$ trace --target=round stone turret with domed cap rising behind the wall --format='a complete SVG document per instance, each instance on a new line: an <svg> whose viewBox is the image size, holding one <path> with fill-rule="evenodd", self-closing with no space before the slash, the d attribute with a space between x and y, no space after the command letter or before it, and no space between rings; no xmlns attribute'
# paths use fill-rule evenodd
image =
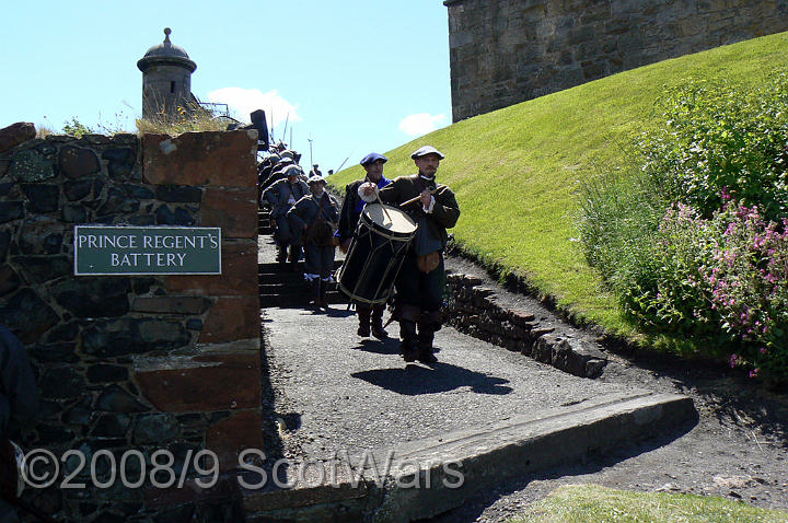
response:
<svg viewBox="0 0 788 523"><path fill-rule="evenodd" d="M196 105L192 94L192 73L197 63L183 47L170 42L170 27L164 28L164 42L148 49L137 62L142 71L142 117L174 118L178 107L190 113Z"/></svg>

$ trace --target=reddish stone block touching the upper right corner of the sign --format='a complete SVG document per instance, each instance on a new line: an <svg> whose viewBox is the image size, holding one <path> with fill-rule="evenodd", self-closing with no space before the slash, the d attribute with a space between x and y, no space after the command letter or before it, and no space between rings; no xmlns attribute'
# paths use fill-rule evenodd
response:
<svg viewBox="0 0 788 523"><path fill-rule="evenodd" d="M220 226L222 237L257 237L257 189L207 188L202 196L202 226Z"/></svg>

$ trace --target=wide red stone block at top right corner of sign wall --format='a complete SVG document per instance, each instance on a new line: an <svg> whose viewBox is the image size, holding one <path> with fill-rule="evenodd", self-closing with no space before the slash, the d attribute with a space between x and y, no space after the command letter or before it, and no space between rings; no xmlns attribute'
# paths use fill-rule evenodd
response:
<svg viewBox="0 0 788 523"><path fill-rule="evenodd" d="M256 187L256 132L142 137L143 179L154 185Z"/></svg>

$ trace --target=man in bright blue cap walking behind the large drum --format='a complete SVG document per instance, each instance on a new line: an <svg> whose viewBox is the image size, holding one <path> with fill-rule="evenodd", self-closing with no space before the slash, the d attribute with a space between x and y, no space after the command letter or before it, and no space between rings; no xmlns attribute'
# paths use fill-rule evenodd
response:
<svg viewBox="0 0 788 523"><path fill-rule="evenodd" d="M339 249L343 253L347 253L350 246L350 241L356 232L361 211L367 205L366 200L371 200L375 197L375 187L382 189L391 184L391 179L383 176L383 164L387 161L387 158L376 152L367 154L361 159L361 166L367 171L367 176L345 187L345 201L343 201L341 211L339 212L339 229L337 230ZM385 303L370 305L369 303L357 302L356 312L359 317L358 335L362 338L368 338L371 330L372 336L378 339L387 338L389 333L383 328L383 311L385 311Z"/></svg>

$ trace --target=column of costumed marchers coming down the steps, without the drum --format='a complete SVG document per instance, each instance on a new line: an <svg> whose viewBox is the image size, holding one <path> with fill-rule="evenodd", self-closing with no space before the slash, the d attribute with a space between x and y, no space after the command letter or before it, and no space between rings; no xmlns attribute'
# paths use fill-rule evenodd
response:
<svg viewBox="0 0 788 523"><path fill-rule="evenodd" d="M341 209L325 191L326 182L317 165L305 177L296 153L283 150L271 156L266 159L268 172L262 182L260 202L268 202L273 209L278 262L282 265L289 262L294 267L303 245L304 277L313 289L310 302L313 307L327 307L326 290L333 281L335 247L348 251L368 202L397 207L418 223L417 240L408 248L395 281L393 317L399 323L403 359L434 363L432 341L441 328L447 229L453 228L460 218L454 193L436 182L443 153L431 146L419 148L410 155L418 173L393 181L383 175L387 161L384 155L375 152L366 155L360 162L366 176L346 187ZM263 168L260 178L262 173ZM359 336L387 337L383 325L385 305L356 303Z"/></svg>

